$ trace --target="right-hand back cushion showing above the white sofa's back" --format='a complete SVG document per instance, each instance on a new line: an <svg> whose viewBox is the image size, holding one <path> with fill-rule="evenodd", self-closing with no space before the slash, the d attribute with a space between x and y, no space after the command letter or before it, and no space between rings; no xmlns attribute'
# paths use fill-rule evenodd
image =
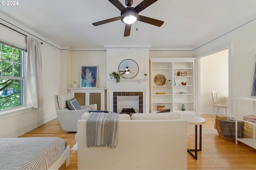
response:
<svg viewBox="0 0 256 170"><path fill-rule="evenodd" d="M131 120L172 120L180 119L179 113L134 113Z"/></svg>

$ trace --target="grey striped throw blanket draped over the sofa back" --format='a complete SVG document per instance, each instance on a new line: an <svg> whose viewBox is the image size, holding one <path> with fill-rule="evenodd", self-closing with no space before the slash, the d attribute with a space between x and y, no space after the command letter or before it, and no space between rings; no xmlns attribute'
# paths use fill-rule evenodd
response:
<svg viewBox="0 0 256 170"><path fill-rule="evenodd" d="M86 121L87 147L115 148L118 141L118 113L91 112Z"/></svg>

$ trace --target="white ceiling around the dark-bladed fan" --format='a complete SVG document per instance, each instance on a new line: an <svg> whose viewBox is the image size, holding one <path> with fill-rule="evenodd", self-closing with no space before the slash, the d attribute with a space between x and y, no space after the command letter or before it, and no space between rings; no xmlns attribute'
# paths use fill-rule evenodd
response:
<svg viewBox="0 0 256 170"><path fill-rule="evenodd" d="M120 0L124 4L125 0ZM71 48L103 45L152 45L154 48L192 48L230 29L256 12L256 0L158 0L140 15L164 21L156 27L140 21L129 37L124 23L96 21L120 16L108 0L20 0L0 6L0 12L50 39ZM142 0L134 0L135 7ZM138 26L138 31L136 27Z"/></svg>

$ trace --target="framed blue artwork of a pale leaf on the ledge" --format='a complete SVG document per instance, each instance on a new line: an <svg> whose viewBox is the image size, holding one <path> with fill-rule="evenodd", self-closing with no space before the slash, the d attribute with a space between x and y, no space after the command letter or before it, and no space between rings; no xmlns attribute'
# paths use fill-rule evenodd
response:
<svg viewBox="0 0 256 170"><path fill-rule="evenodd" d="M98 66L82 66L80 88L97 88Z"/></svg>

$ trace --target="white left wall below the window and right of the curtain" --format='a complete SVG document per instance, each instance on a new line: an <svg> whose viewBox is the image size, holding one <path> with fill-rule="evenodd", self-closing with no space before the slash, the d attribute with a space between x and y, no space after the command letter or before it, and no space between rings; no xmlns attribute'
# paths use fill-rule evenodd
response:
<svg viewBox="0 0 256 170"><path fill-rule="evenodd" d="M1 33L6 33L5 37L12 37L14 33L13 37L20 38L17 43L22 42L24 38L24 35L16 36L17 32L8 29L1 29ZM38 109L17 109L11 113L0 112L0 137L17 137L57 117L53 95L61 92L60 51L49 47L47 43L41 47L44 106Z"/></svg>

